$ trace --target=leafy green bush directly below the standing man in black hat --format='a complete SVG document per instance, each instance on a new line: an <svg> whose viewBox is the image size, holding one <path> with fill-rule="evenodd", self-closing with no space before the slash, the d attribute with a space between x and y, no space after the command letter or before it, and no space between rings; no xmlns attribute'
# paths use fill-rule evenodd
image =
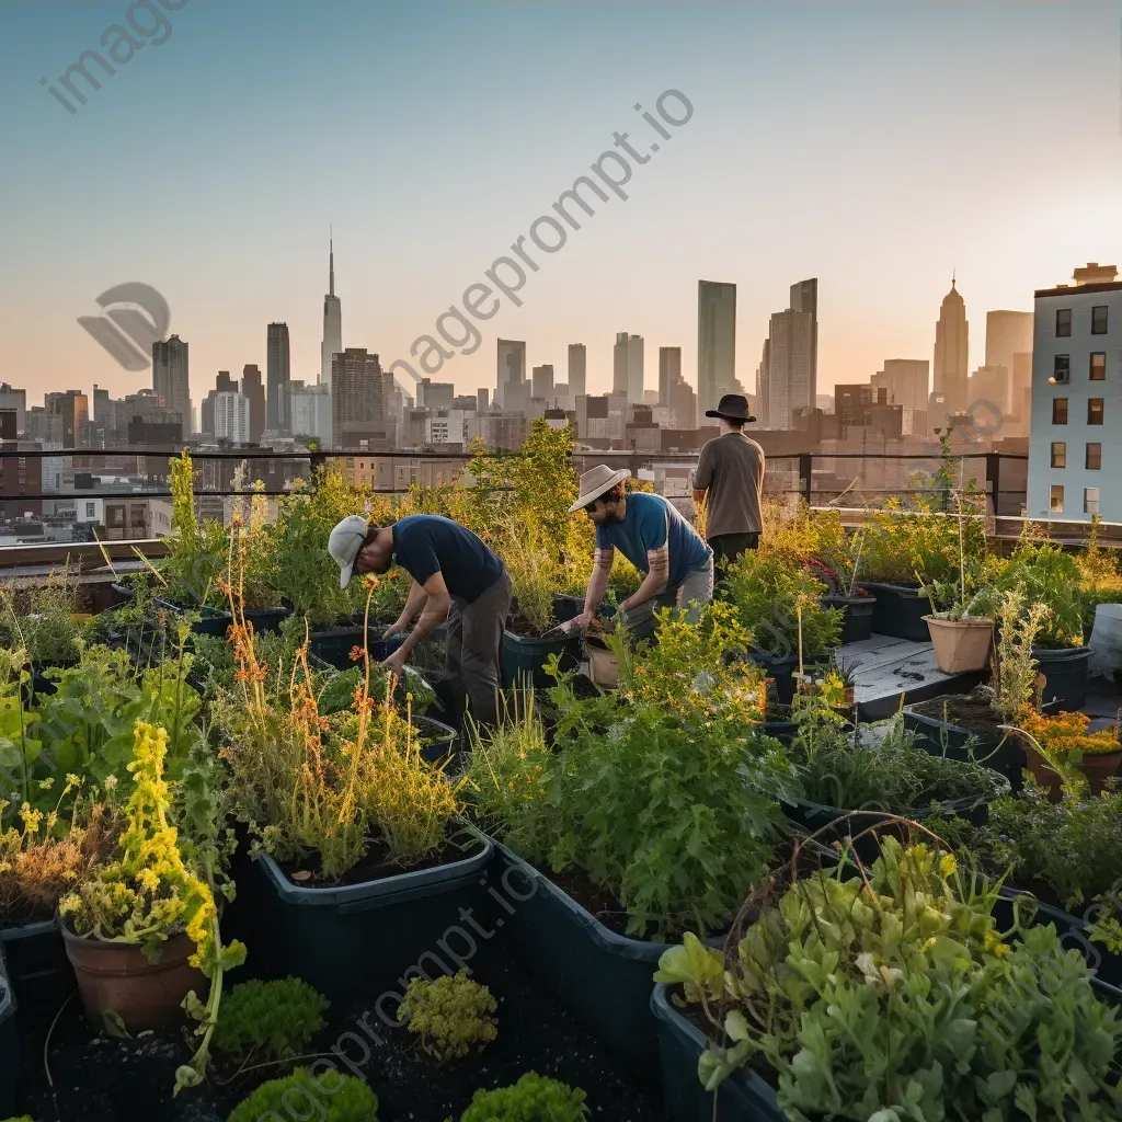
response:
<svg viewBox="0 0 1122 1122"><path fill-rule="evenodd" d="M725 569L724 583L765 654L818 655L840 642L842 609L822 607L826 586L782 553L746 550Z"/></svg>

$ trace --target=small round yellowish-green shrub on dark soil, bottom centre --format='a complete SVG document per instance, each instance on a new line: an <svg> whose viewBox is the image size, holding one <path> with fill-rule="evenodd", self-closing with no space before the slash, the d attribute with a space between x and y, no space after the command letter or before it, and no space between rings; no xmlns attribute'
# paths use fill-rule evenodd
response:
<svg viewBox="0 0 1122 1122"><path fill-rule="evenodd" d="M413 978L397 1009L397 1020L408 1021L410 1032L421 1038L426 1052L448 1060L479 1051L498 1036L497 1009L490 990L459 971L435 982Z"/></svg>

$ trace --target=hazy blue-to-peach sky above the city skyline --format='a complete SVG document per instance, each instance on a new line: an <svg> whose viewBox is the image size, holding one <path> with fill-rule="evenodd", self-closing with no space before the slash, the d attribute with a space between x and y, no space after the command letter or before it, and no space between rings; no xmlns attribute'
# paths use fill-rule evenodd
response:
<svg viewBox="0 0 1122 1122"><path fill-rule="evenodd" d="M270 320L314 381L329 222L344 344L407 359L614 131L646 150L633 107L666 89L693 117L631 197L539 254L522 306L504 300L436 380L493 387L502 335L558 380L587 343L601 390L628 331L649 388L660 346L695 381L703 277L738 286L752 388L769 314L817 276L827 390L930 359L953 268L973 369L987 309L1031 310L1087 260L1122 267L1118 2L168 2L166 42L73 116L39 80L129 3L0 9L0 379L29 401L150 384L75 323L127 280L166 296L196 405L219 369L264 370Z"/></svg>

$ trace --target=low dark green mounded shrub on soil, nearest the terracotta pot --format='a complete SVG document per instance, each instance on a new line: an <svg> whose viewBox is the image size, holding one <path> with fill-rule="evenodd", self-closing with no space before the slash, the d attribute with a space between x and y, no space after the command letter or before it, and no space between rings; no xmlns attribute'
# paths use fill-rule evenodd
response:
<svg viewBox="0 0 1122 1122"><path fill-rule="evenodd" d="M231 1059L292 1059L323 1028L328 999L301 978L242 982L222 1002L213 1046Z"/></svg>

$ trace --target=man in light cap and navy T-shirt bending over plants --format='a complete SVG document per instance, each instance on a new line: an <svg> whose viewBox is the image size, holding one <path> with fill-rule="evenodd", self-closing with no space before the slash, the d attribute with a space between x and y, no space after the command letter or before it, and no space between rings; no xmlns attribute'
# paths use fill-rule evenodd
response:
<svg viewBox="0 0 1122 1122"><path fill-rule="evenodd" d="M494 725L511 614L511 578L503 562L470 530L435 514L411 514L389 526L368 526L366 518L351 515L331 531L328 552L339 564L342 588L355 573L387 572L396 560L413 586L387 634L416 624L381 664L401 674L416 645L447 617L452 686L470 699L477 721Z"/></svg>

